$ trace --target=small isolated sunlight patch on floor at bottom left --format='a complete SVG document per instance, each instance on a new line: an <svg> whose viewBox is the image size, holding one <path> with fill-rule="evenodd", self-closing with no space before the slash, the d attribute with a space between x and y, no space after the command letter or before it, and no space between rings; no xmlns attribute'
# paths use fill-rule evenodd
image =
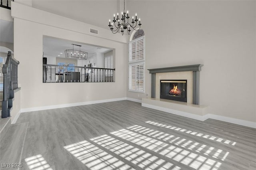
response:
<svg viewBox="0 0 256 170"><path fill-rule="evenodd" d="M30 170L52 170L40 154L26 158L25 161Z"/></svg>

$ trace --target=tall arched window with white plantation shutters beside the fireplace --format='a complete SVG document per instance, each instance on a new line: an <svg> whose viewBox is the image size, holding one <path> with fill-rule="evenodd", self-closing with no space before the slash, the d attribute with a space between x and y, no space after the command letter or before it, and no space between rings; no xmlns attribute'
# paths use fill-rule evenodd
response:
<svg viewBox="0 0 256 170"><path fill-rule="evenodd" d="M143 30L133 32L129 42L129 91L145 91L145 36Z"/></svg>

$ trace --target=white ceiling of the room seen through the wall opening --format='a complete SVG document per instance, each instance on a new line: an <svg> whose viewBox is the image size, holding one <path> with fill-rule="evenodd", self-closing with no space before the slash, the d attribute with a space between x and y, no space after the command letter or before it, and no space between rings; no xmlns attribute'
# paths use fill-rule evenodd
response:
<svg viewBox="0 0 256 170"><path fill-rule="evenodd" d="M72 43L77 45L82 45L82 47L80 47L81 51L87 52L88 56L91 56L93 53L107 53L113 50L106 47L99 47L95 45L88 45L84 43L72 42L69 40L44 36L43 38L44 55L53 56L53 57L65 57L65 50L72 49L73 48ZM79 49L79 47L74 45L74 49Z"/></svg>

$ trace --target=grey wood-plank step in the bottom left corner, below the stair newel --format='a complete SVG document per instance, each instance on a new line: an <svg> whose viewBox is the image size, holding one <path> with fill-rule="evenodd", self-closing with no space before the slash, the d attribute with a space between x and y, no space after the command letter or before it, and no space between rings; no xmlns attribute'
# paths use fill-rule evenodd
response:
<svg viewBox="0 0 256 170"><path fill-rule="evenodd" d="M27 127L28 123L11 125L6 134L0 137L0 162L2 164L10 163L12 165L12 163L20 163ZM1 170L10 169L15 168L1 167Z"/></svg>

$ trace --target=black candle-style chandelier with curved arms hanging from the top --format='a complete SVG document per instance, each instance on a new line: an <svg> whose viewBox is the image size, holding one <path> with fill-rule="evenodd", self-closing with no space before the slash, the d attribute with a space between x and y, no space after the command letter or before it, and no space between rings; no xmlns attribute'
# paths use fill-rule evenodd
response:
<svg viewBox="0 0 256 170"><path fill-rule="evenodd" d="M121 17L121 16L120 16ZM124 2L124 13L122 12L122 18L119 18L118 13L117 13L117 18L115 18L115 14L114 14L114 20L113 22L110 24L110 20L109 20L109 28L112 31L113 34L116 34L120 29L122 32L122 35L124 35L124 30L127 29L128 35L130 35L130 28L134 29L134 30L140 30L140 18L139 20L137 19L137 14L135 14L135 20L134 17L132 17L132 22L131 24L129 23L129 16L128 16L128 11L127 13L125 13L125 2ZM139 24L138 24L139 21ZM139 28L136 28L136 26L139 26Z"/></svg>

